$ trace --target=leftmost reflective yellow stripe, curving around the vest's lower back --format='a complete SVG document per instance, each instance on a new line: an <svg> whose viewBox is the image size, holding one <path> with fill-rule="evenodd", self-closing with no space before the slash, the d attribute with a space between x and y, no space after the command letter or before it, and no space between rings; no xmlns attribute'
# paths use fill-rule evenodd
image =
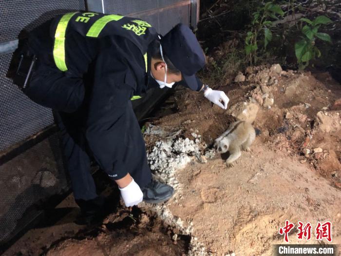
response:
<svg viewBox="0 0 341 256"><path fill-rule="evenodd" d="M55 34L55 45L53 48L53 58L55 59L56 66L61 71L66 71L68 68L65 63L65 32L68 26L69 20L77 12L67 13L61 17L57 25Z"/></svg>

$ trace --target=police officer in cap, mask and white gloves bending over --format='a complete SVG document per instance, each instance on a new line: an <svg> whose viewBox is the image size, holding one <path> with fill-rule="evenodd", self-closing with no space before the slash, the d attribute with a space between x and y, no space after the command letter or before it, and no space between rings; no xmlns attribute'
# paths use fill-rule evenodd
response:
<svg viewBox="0 0 341 256"><path fill-rule="evenodd" d="M225 93L195 76L205 56L183 24L161 37L144 20L73 12L32 31L27 47L38 60L24 93L57 111L74 196L90 219L104 203L90 173L91 157L117 183L126 206L164 202L174 193L152 179L132 99L152 86L183 81L227 108Z"/></svg>

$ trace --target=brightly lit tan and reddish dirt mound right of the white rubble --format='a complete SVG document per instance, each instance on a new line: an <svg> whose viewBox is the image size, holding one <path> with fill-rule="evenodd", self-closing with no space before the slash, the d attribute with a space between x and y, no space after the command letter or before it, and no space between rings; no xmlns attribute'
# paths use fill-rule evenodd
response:
<svg viewBox="0 0 341 256"><path fill-rule="evenodd" d="M238 116L239 102L259 109L252 114L260 135L251 152L244 152L233 167L226 166L222 155L178 171L182 191L170 211L193 222L193 236L213 255L271 255L272 244L283 243L278 231L286 219L296 226L310 222L313 228L329 220L332 243L340 244L341 108L335 103L340 84L327 73L272 76L266 67L245 73L245 81L216 88L227 93L232 111L180 91L174 97L180 112L154 121L161 127L180 124L185 137L193 139L195 131L210 145L227 129L230 114ZM265 107L265 93L274 98L270 107ZM303 154L306 150L310 153ZM289 240L318 243L300 241L296 232Z"/></svg>

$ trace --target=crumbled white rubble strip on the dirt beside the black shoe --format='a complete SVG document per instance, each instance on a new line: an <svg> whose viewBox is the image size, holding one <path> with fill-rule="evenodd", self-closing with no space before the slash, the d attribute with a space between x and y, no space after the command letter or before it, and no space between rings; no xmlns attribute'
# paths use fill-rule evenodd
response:
<svg viewBox="0 0 341 256"><path fill-rule="evenodd" d="M191 134L195 141L189 138L170 138L166 141L160 140L155 143L150 153L147 153L148 163L155 171L155 175L159 176L164 182L173 186L176 189L176 194L173 196L174 201L177 201L181 187L175 177L175 173L187 166L193 156L201 162L203 159L211 158L215 155L214 150L206 151L206 154L201 155L200 148L203 147L201 136L196 133ZM214 152L214 153L213 153ZM180 196L181 197L181 196ZM168 204L146 204L147 208L151 208L156 214L166 223L178 229L184 235L191 236L189 244L189 256L210 256L206 251L204 244L198 241L197 237L192 236L193 222L184 223L180 217L175 217L170 212ZM173 237L176 240L177 236Z"/></svg>

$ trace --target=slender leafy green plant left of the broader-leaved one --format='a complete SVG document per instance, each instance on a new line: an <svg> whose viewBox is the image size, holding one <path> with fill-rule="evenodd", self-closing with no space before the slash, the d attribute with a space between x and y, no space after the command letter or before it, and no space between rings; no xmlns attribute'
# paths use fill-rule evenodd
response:
<svg viewBox="0 0 341 256"><path fill-rule="evenodd" d="M272 32L270 27L273 23L271 19L279 20L279 17L284 16L282 8L273 4L272 1L266 2L263 7L257 7L257 11L252 14L251 31L246 33L245 53L252 65L257 62L257 50L259 45L259 35L261 31L264 33L264 49L272 40Z"/></svg>

